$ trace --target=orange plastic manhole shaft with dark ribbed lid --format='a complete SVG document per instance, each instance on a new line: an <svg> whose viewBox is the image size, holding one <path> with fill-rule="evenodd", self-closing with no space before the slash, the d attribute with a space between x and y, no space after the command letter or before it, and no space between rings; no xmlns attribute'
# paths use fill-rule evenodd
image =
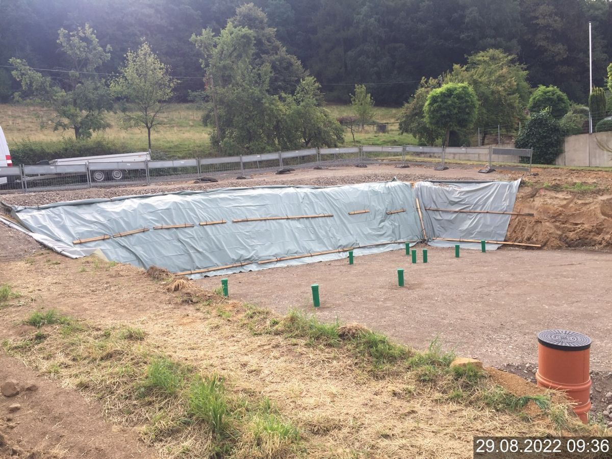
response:
<svg viewBox="0 0 612 459"><path fill-rule="evenodd" d="M591 338L570 330L543 330L537 334L537 341L537 385L563 390L576 402L573 411L587 422L591 409Z"/></svg>

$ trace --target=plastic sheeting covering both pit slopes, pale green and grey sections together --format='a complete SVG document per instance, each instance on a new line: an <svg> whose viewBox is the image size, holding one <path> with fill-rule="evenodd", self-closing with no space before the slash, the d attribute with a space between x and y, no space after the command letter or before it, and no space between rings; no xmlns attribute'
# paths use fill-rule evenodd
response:
<svg viewBox="0 0 612 459"><path fill-rule="evenodd" d="M406 241L414 244L424 239L417 196L428 238L502 241L509 215L425 208L512 211L518 183L418 182L414 189L400 181L325 188L223 188L13 207L12 215L39 235L40 242L67 256L90 255L99 249L109 260L145 269L155 265L171 272L244 264L190 274L198 278L338 259L346 257L349 248L354 248L355 255L365 255L403 248ZM244 221L270 217L298 218ZM225 223L200 225L220 221ZM193 226L154 229L165 225ZM73 244L78 239L143 228L147 231ZM304 256L332 250L338 252ZM259 263L292 256L296 258Z"/></svg>

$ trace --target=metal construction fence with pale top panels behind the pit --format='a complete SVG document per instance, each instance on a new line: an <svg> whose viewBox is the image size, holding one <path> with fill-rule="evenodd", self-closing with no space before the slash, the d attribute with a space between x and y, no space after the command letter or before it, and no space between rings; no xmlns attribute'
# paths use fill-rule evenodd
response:
<svg viewBox="0 0 612 459"><path fill-rule="evenodd" d="M125 184L184 181L206 176L245 176L256 171L323 165L408 162L435 159L436 168L447 168L446 160L482 163L483 171L494 163L510 163L531 171L532 151L516 148L378 146L310 148L256 155L137 162L88 162L77 165L21 165L0 167L0 193L112 187Z"/></svg>

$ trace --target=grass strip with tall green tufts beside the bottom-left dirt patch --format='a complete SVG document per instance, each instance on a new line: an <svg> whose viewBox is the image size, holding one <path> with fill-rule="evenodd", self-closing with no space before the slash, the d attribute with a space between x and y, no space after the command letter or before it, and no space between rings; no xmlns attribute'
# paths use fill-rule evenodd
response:
<svg viewBox="0 0 612 459"><path fill-rule="evenodd" d="M266 398L228 390L217 373L160 354L141 329L98 327L56 311L32 313L39 328L3 343L51 378L104 403L120 424L144 426L141 438L161 457L290 458L302 452L300 431Z"/></svg>

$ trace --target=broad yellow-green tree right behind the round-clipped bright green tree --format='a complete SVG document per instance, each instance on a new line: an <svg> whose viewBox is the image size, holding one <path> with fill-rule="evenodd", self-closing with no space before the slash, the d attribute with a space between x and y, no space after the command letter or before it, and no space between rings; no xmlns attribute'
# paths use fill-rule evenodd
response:
<svg viewBox="0 0 612 459"><path fill-rule="evenodd" d="M531 88L524 65L502 50L486 50L468 57L468 64L454 65L446 81L468 83L478 97L476 124L484 140L498 125L516 127L524 118Z"/></svg>

